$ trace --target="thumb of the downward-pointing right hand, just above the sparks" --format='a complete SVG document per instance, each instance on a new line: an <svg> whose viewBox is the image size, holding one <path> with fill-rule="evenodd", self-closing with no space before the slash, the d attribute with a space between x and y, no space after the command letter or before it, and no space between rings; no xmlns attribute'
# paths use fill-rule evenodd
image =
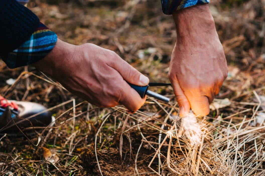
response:
<svg viewBox="0 0 265 176"><path fill-rule="evenodd" d="M183 117L187 113L189 113L191 106L182 88L179 85L178 79L172 80L171 84L173 86L173 90L174 90L174 94L176 96L177 102L179 104L179 116Z"/></svg>

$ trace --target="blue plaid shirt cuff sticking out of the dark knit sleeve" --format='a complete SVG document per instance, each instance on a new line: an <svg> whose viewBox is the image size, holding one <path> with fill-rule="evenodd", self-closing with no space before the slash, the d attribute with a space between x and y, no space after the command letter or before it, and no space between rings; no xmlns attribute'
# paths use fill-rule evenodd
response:
<svg viewBox="0 0 265 176"><path fill-rule="evenodd" d="M44 58L53 49L57 35L45 25L39 23L35 32L14 51L2 54L1 58L8 68L17 68L33 64Z"/></svg>

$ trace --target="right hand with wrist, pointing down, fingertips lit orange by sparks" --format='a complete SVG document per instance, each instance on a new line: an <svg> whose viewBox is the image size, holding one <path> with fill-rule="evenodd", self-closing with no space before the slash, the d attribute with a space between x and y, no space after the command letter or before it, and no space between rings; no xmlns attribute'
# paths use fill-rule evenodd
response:
<svg viewBox="0 0 265 176"><path fill-rule="evenodd" d="M223 46L207 4L173 13L177 41L172 52L169 79L180 107L197 116L209 114L209 103L227 77Z"/></svg>

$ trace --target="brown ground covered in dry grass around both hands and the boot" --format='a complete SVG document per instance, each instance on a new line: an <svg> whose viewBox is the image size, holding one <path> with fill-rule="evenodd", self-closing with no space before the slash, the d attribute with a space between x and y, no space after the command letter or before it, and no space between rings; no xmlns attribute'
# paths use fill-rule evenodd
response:
<svg viewBox="0 0 265 176"><path fill-rule="evenodd" d="M168 82L176 34L158 1L57 2L29 5L61 39L112 49L152 81ZM83 102L32 67L1 63L1 95L51 107L56 123L33 134L2 134L0 175L264 175L265 3L219 3L211 9L229 76L209 116L197 119L204 127L199 145L180 131L181 119L170 120L178 113L170 87L153 90L171 104L147 99L131 114ZM7 85L9 78L17 81ZM220 106L224 98L229 104Z"/></svg>

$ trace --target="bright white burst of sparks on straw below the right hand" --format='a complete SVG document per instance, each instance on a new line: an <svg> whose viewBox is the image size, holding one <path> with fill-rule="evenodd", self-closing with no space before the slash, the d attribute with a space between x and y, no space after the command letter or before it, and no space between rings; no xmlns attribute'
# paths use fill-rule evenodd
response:
<svg viewBox="0 0 265 176"><path fill-rule="evenodd" d="M181 131L190 140L191 145L199 145L201 143L204 127L198 123L197 117L193 113L181 118Z"/></svg>

